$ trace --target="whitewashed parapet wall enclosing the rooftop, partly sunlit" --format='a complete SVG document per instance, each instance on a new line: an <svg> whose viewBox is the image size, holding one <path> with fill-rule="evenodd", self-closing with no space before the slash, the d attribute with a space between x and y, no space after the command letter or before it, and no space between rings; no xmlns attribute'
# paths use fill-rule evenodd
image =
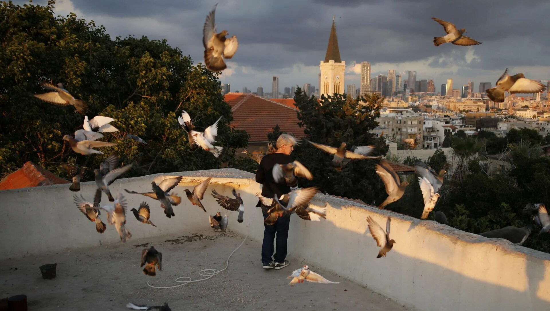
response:
<svg viewBox="0 0 550 311"><path fill-rule="evenodd" d="M184 176L183 181L172 193L183 198L182 204L174 207L172 219L164 216L158 201L123 190L150 191L151 181L179 175ZM214 178L203 200L208 211L205 213L189 203L184 189L210 176ZM233 188L245 203L243 223L237 222L237 212L220 208L211 196L211 189L230 195ZM91 200L95 184L83 183L82 189L77 194ZM131 212L127 215L133 239L193 232L209 226L208 214L217 211L228 215L229 230L259 241L263 237L261 210L255 208L254 195L261 187L254 181L254 174L248 172L227 168L155 174L119 179L111 189L113 193L124 193L129 208L137 208L141 201L151 206L151 220L158 228L138 223ZM103 195L103 203L106 201ZM0 259L121 243L113 226L107 225L103 234L95 231L94 223L76 209L66 184L0 191L0 202ZM310 222L292 216L289 256L301 259L299 264L322 266L411 309L550 308L549 254L329 195L317 194L312 204L327 204L327 219ZM378 247L366 223L369 215L382 227L387 217L392 219L390 236L397 243L386 258L376 258ZM105 215L102 219L106 222ZM239 242L235 241L235 246ZM257 255L260 264L260 249ZM337 286L345 287L345 282Z"/></svg>

